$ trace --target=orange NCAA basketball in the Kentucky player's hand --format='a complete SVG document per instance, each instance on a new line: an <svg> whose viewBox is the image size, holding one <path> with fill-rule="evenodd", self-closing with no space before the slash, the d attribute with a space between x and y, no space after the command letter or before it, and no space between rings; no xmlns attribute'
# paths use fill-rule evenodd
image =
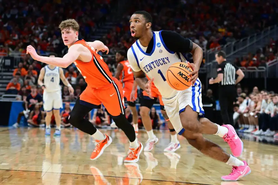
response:
<svg viewBox="0 0 278 185"><path fill-rule="evenodd" d="M166 80L171 88L179 91L185 90L192 85L189 81L192 76L188 75L192 71L187 63L177 62L166 71Z"/></svg>

